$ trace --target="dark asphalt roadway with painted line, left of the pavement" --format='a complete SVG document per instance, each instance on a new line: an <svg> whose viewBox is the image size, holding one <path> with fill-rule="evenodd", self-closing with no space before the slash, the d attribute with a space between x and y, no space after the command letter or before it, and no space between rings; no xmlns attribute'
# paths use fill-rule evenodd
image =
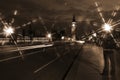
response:
<svg viewBox="0 0 120 80"><path fill-rule="evenodd" d="M1 80L60 80L80 51L81 45L62 43L43 49L22 51L21 57L0 60ZM9 49L7 49L9 50ZM14 50L13 50L14 51ZM7 56L9 54L9 56ZM0 52L0 59L16 56L16 52ZM19 54L18 54L19 55Z"/></svg>

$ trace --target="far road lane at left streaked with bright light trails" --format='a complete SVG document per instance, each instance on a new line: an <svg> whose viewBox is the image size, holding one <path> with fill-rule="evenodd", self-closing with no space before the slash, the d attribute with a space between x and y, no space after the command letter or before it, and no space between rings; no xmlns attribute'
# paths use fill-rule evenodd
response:
<svg viewBox="0 0 120 80"><path fill-rule="evenodd" d="M43 49L43 51L46 48L51 48L51 47L59 47L59 46L66 46L66 45L70 45L70 43L61 43L59 42L59 44L44 44L44 45L31 45L31 46L24 46L24 47L16 47L16 46L5 46L5 47L1 47L0 48L0 59L4 58L4 57L12 57L12 56L18 56L20 57L20 53L22 53L23 55L26 54L28 52L31 52L31 50L39 50L39 49ZM63 50L63 49L61 49Z"/></svg>

